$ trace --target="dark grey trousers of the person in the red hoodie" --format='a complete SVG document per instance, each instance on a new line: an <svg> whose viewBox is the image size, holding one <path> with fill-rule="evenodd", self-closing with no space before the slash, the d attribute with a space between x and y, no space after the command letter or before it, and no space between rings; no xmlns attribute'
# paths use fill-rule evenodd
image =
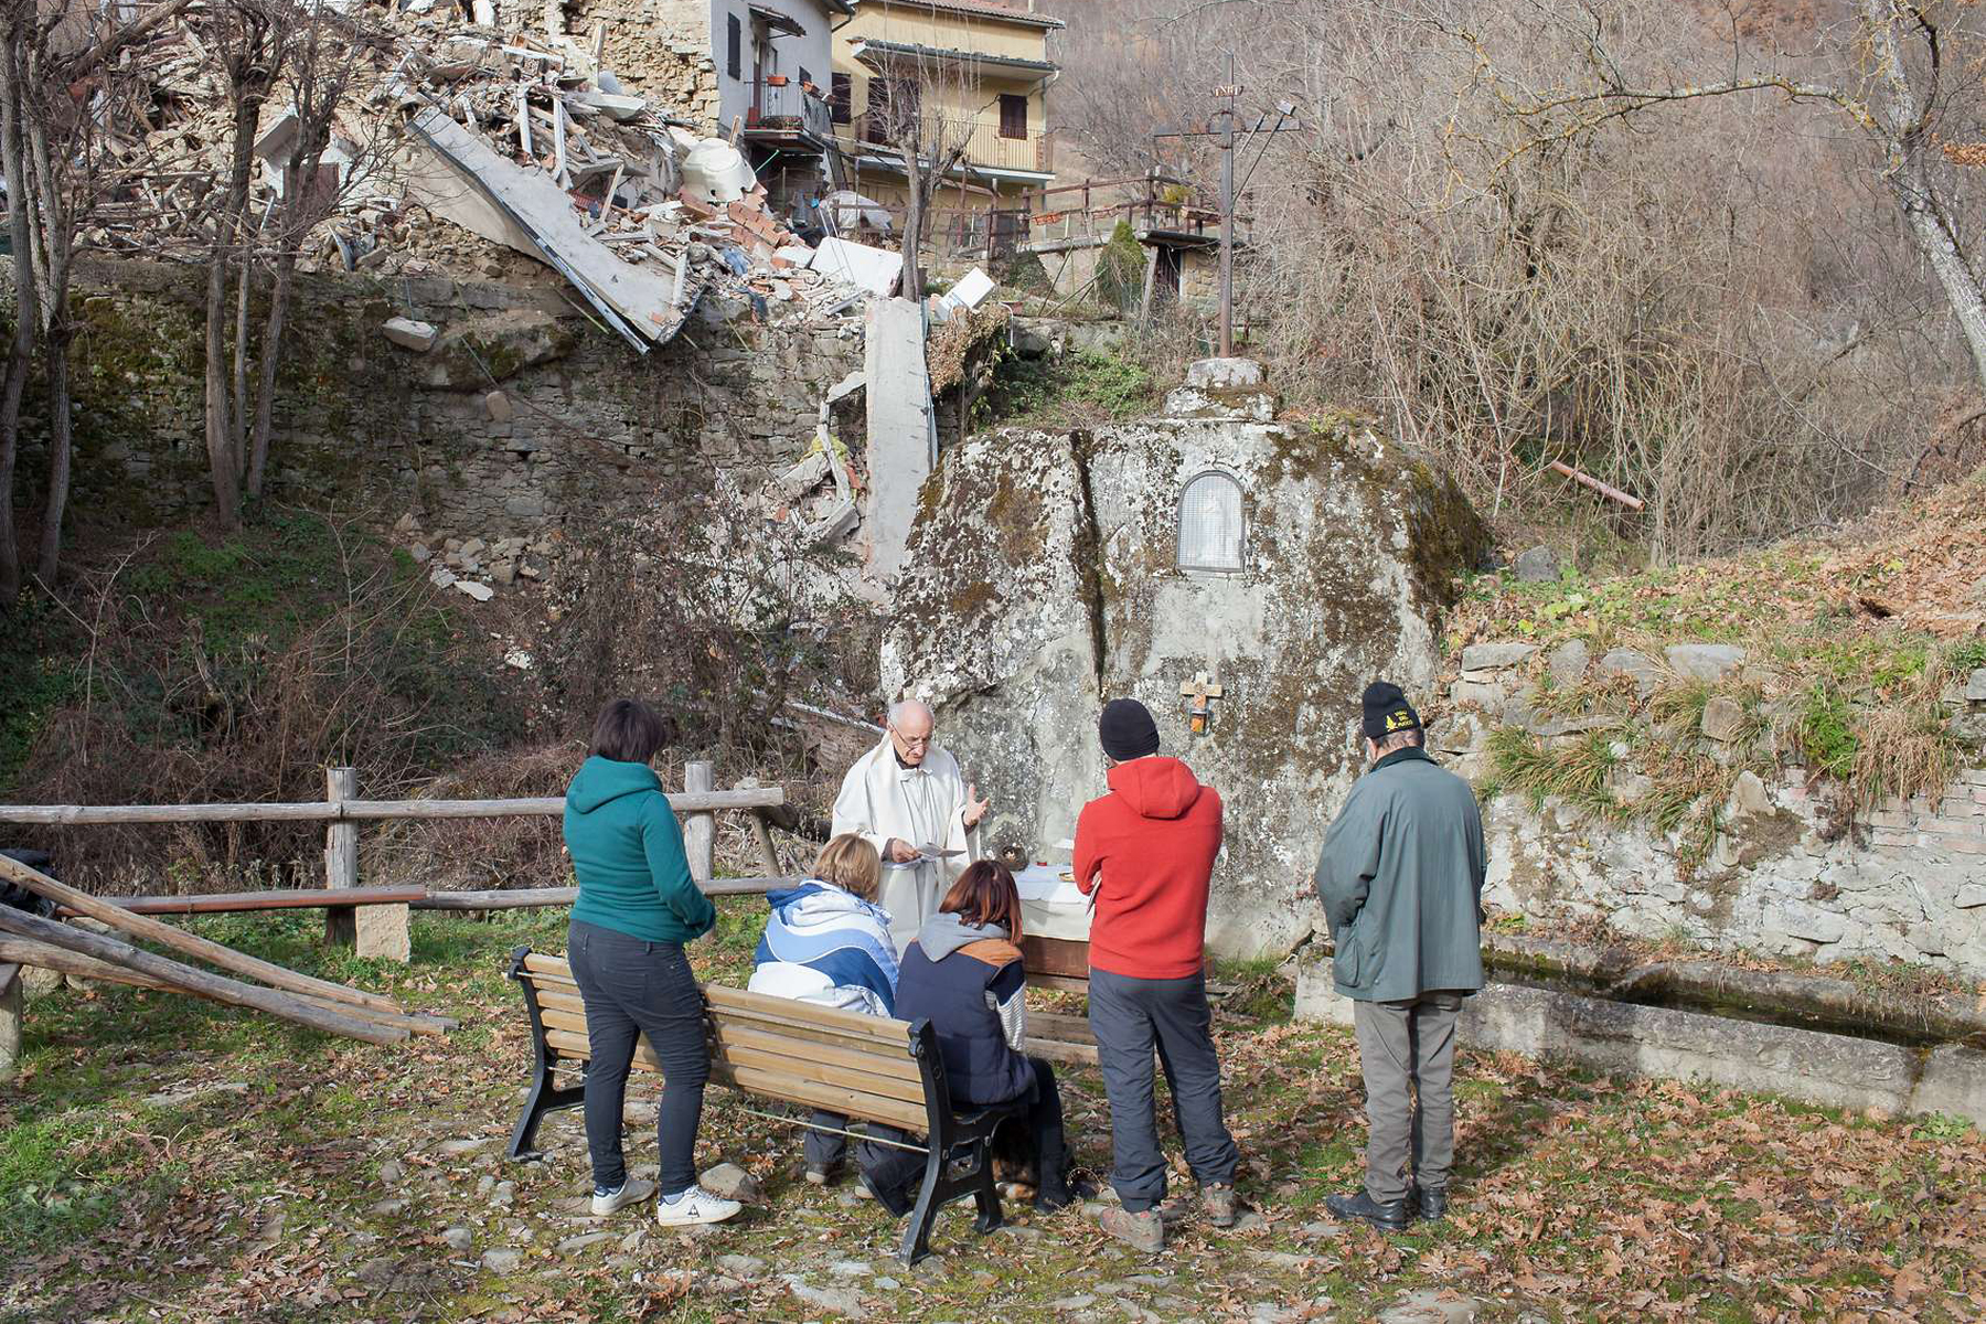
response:
<svg viewBox="0 0 1986 1324"><path fill-rule="evenodd" d="M1186 1165L1200 1185L1233 1185L1241 1155L1221 1120L1221 1064L1213 1054L1206 973L1132 979L1092 969L1090 1032L1096 1034L1096 1064L1110 1098L1110 1185L1124 1209L1142 1213L1166 1199L1154 1048L1172 1090Z"/></svg>

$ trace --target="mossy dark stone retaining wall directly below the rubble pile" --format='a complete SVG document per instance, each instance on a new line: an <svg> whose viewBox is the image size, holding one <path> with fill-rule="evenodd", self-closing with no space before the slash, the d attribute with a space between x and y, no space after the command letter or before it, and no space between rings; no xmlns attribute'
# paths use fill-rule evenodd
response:
<svg viewBox="0 0 1986 1324"><path fill-rule="evenodd" d="M205 510L201 272L119 264L77 284L73 518L161 526ZM268 496L413 512L437 550L514 538L556 558L570 532L665 482L782 468L812 443L826 389L860 369L860 318L775 328L705 304L639 355L554 282L306 280ZM389 341L391 318L431 324L435 345ZM38 405L24 502L42 466Z"/></svg>

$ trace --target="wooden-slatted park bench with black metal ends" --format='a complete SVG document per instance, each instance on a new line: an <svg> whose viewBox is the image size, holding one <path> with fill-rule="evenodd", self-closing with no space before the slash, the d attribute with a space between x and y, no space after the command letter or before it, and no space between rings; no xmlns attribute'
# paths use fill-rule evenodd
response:
<svg viewBox="0 0 1986 1324"><path fill-rule="evenodd" d="M554 1072L592 1058L586 1036L586 1002L564 957L518 947L510 979L524 993L536 1050L524 1112L510 1133L510 1157L534 1151L538 1122L586 1100L584 1080L558 1084ZM860 1012L701 985L711 1044L711 1082L763 1100L824 1108L850 1120L880 1122L906 1135L925 1155L923 1185L904 1231L902 1258L916 1264L931 1253L937 1209L971 1195L979 1207L973 1229L981 1235L1001 1225L993 1189L989 1141L1001 1120L1019 1108L953 1112L945 1086L945 1060L929 1020L916 1024ZM636 1042L634 1068L661 1072L653 1048ZM951 1169L963 1161L963 1171Z"/></svg>

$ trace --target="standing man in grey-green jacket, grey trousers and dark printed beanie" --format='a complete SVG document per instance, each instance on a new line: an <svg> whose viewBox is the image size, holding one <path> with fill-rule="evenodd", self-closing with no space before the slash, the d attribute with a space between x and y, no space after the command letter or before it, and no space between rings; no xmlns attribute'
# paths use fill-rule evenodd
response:
<svg viewBox="0 0 1986 1324"><path fill-rule="evenodd" d="M1430 1221L1448 1209L1456 1012L1484 987L1488 852L1476 792L1422 750L1398 685L1366 687L1362 725L1372 768L1325 834L1315 881L1337 943L1333 981L1352 998L1370 1133L1364 1189L1325 1203L1398 1231L1416 1207Z"/></svg>

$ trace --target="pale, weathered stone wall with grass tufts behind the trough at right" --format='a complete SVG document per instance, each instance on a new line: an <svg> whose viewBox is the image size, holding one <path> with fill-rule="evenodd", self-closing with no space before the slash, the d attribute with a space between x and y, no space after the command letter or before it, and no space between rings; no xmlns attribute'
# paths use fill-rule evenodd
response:
<svg viewBox="0 0 1986 1324"><path fill-rule="evenodd" d="M1529 643L1464 651L1450 685L1458 713L1430 730L1460 772L1476 780L1491 772L1486 744L1499 725L1545 742L1609 725L1535 713L1535 653ZM1676 677L1738 677L1748 665L1744 649L1694 643L1660 657L1615 649L1599 659L1571 643L1545 661L1563 683L1611 671L1642 695ZM1712 742L1726 721L1718 703L1712 697L1702 719ZM1956 723L1986 719L1986 693L1968 701L1962 691L1956 703ZM1632 802L1646 794L1636 780L1644 778L1617 768L1611 790ZM1533 808L1523 794L1501 794L1484 814L1486 895L1541 923L1603 919L1629 935L1682 937L1712 951L1897 959L1986 979L1986 770L1960 772L1936 798L1891 798L1847 820L1835 804L1805 768L1738 772L1708 858L1696 860L1680 832L1599 820L1557 798Z"/></svg>

